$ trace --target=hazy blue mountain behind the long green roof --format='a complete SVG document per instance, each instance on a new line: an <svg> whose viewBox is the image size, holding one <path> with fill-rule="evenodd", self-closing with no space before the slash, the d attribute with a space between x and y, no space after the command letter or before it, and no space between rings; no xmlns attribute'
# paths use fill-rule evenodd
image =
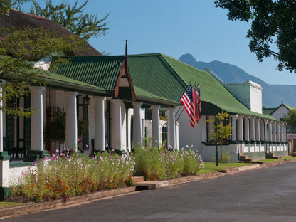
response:
<svg viewBox="0 0 296 222"><path fill-rule="evenodd" d="M226 83L245 83L251 80L263 87L262 102L263 106L278 107L282 101L285 105L296 107L296 85L270 85L260 78L245 73L244 70L236 65L212 61L211 63L198 62L191 54L182 55L179 60L200 70L210 67L221 80Z"/></svg>

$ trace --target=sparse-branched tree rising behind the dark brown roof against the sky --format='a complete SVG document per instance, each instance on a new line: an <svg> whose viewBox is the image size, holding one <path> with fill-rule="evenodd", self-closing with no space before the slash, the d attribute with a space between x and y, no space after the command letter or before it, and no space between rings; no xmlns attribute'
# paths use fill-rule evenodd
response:
<svg viewBox="0 0 296 222"><path fill-rule="evenodd" d="M109 14L101 19L98 19L95 14L83 14L88 0L84 1L81 6L78 6L78 0L75 1L73 6L70 6L68 2L64 1L60 4L53 5L51 0L46 0L46 6L44 8L35 0L32 0L32 3L33 7L30 14L43 16L56 21L86 41L92 37L105 36L106 31L109 29L106 22Z"/></svg>

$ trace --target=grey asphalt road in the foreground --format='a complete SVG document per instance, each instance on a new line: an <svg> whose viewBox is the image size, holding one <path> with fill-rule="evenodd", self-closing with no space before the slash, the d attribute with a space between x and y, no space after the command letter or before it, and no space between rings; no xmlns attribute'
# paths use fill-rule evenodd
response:
<svg viewBox="0 0 296 222"><path fill-rule="evenodd" d="M296 162L4 221L296 221Z"/></svg>

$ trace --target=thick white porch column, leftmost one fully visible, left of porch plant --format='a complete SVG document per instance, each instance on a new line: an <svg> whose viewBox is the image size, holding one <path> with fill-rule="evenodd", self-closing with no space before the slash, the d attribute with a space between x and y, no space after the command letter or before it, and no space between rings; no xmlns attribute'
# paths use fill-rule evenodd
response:
<svg viewBox="0 0 296 222"><path fill-rule="evenodd" d="M31 150L43 151L43 86L31 86Z"/></svg>

